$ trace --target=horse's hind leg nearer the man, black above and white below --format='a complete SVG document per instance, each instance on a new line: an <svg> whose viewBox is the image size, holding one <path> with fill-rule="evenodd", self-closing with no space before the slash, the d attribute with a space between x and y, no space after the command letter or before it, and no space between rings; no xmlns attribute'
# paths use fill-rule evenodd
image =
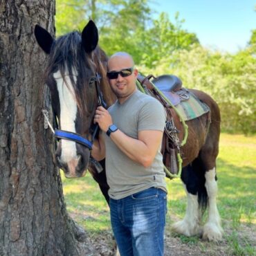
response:
<svg viewBox="0 0 256 256"><path fill-rule="evenodd" d="M187 209L185 212L185 217L182 221L174 223L172 229L174 232L179 234L191 236L200 235L202 232L201 223L201 212L199 205L199 177L194 172L192 165L183 167L181 173L181 180L185 187L185 192L187 194Z"/></svg>

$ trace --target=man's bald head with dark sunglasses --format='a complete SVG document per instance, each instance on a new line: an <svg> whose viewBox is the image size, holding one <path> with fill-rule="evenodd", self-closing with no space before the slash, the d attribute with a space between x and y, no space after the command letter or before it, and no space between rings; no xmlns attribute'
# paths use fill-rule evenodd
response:
<svg viewBox="0 0 256 256"><path fill-rule="evenodd" d="M111 89L122 103L136 91L138 70L134 68L134 60L128 53L115 53L109 58L107 67Z"/></svg>

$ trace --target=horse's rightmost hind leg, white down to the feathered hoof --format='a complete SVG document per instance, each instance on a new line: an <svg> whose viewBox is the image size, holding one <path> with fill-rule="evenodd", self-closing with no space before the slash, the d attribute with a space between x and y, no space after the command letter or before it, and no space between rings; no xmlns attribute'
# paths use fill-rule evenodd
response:
<svg viewBox="0 0 256 256"><path fill-rule="evenodd" d="M205 173L205 188L208 193L208 221L203 226L203 239L218 241L222 237L221 219L217 209L217 178L215 167Z"/></svg>

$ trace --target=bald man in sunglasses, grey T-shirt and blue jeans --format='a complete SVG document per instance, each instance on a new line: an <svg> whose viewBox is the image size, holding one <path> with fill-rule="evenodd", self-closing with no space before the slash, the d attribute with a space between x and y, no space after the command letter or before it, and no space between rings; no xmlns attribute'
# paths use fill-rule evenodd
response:
<svg viewBox="0 0 256 256"><path fill-rule="evenodd" d="M107 77L118 100L98 107L94 122L104 132L93 157L106 157L111 226L120 255L163 255L167 189L161 140L165 110L137 90L138 70L128 53L108 62Z"/></svg>

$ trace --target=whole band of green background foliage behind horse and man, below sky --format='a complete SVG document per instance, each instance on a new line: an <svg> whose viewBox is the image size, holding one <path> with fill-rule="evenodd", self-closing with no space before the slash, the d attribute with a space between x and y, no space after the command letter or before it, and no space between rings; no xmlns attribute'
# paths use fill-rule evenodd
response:
<svg viewBox="0 0 256 256"><path fill-rule="evenodd" d="M93 17L100 46L107 55L126 51L145 75L181 77L184 86L201 89L217 100L222 129L256 133L256 30L248 46L235 55L203 48L194 33L183 29L176 13L152 19L147 0L58 0L57 34L80 28Z"/></svg>

